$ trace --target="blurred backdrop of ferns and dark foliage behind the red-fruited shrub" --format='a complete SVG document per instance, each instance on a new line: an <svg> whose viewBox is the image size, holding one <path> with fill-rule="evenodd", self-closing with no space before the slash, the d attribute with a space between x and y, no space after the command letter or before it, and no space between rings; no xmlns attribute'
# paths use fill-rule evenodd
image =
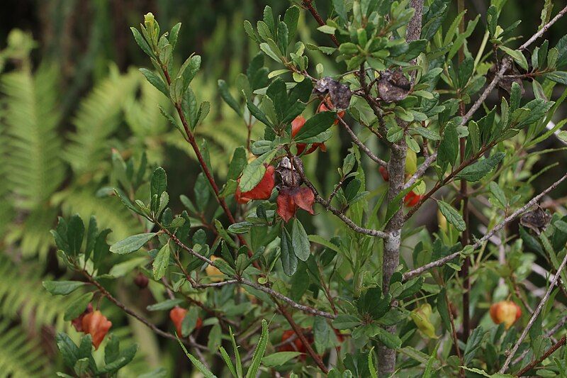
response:
<svg viewBox="0 0 567 378"><path fill-rule="evenodd" d="M556 1L555 11L564 6ZM532 35L539 25L543 1L508 0L500 18L503 25L521 19L518 35ZM169 174L173 205L179 195L193 196L199 172L192 152L176 130L159 113L167 99L147 84L136 67L150 62L135 45L130 26L153 12L162 28L181 22L176 60L191 52L203 56L195 82L199 101L210 101L211 113L197 130L211 153L220 182L232 150L246 140L241 119L222 103L217 80L232 87L237 74L246 70L257 50L242 28L245 19L255 23L265 5L283 13L289 1L264 0L5 0L0 12L0 372L13 377L53 376L62 368L53 341L57 330L69 330L62 308L69 299L47 294L41 282L65 274L57 263L49 233L57 216L80 213L84 219L95 214L100 227L113 229L110 240L119 240L142 229L128 211L108 196L116 178L111 177L113 149L125 159L147 152L152 165L162 165ZM326 14L327 1L318 1ZM489 1L467 0L467 18L485 13ZM455 4L452 4L456 8ZM454 18L451 9L447 22ZM315 30L315 22L302 13L299 35L329 43ZM481 17L484 23L484 17ZM551 45L564 33L565 23L551 28ZM313 31L315 30L315 32ZM479 26L469 45L475 51L484 28ZM325 63L326 72L337 65L328 57L310 54L310 65ZM273 62L269 62L271 64ZM339 66L337 66L339 67ZM529 86L527 86L529 91ZM495 98L493 99L495 100ZM260 130L254 130L256 133ZM327 146L325 164L317 154L307 166L328 191L348 138L336 135ZM558 146L551 140L541 148ZM335 148L333 148L335 147ZM379 151L379 147L371 146ZM554 158L551 157L551 160ZM538 162L541 166L549 162ZM565 170L563 162L554 169ZM542 179L542 181L546 181ZM378 172L369 173L369 187L381 182ZM537 184L539 186L539 184ZM546 182L541 183L545 187ZM383 187L382 187L383 188ZM383 189L381 189L383 190ZM336 220L315 217L311 230L332 235ZM432 220L436 223L435 219ZM130 281L116 288L118 296L135 308L145 308L160 294L138 294ZM130 283L128 283L130 282ZM133 298L128 292L134 291ZM136 363L124 376L136 376L157 367L171 375L187 370L181 351L164 343L116 308L108 308L113 332L125 343L140 343ZM163 315L163 314L161 314ZM167 319L154 315L152 321L167 327ZM157 317L157 318L156 318ZM206 343L206 341L205 341Z"/></svg>

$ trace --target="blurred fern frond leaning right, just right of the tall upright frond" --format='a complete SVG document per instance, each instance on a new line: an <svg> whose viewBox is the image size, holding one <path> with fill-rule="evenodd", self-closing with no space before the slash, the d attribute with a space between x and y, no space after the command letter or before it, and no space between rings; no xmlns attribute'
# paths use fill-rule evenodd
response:
<svg viewBox="0 0 567 378"><path fill-rule="evenodd" d="M73 121L76 130L69 135L71 143L64 153L76 174L94 172L101 162L108 162L108 138L120 125L123 104L128 96L133 96L137 75L137 72L122 75L115 67L79 105Z"/></svg>

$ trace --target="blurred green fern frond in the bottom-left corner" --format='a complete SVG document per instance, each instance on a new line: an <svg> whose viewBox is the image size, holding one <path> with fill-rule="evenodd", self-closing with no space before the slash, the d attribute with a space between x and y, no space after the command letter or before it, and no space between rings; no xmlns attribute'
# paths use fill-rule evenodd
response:
<svg viewBox="0 0 567 378"><path fill-rule="evenodd" d="M0 374L2 377L52 377L50 361L39 340L28 339L20 326L0 316Z"/></svg>

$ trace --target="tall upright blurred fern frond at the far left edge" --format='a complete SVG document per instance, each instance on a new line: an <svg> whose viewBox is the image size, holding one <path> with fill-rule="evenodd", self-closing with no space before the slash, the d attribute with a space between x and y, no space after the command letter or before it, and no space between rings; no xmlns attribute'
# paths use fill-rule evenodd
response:
<svg viewBox="0 0 567 378"><path fill-rule="evenodd" d="M42 66L4 74L0 90L5 96L7 177L18 206L33 209L45 204L65 174L60 158L62 140L57 133L57 71Z"/></svg>

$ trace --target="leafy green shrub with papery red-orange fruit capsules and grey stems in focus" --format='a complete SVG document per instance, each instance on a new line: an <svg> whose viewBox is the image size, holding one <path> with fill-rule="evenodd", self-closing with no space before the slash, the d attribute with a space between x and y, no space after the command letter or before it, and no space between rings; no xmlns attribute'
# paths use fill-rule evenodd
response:
<svg viewBox="0 0 567 378"><path fill-rule="evenodd" d="M60 295L92 289L66 313L89 323L83 331L90 335L79 346L57 336L66 365L78 375L114 374L133 359L135 347L120 350L113 336L103 343L104 365L94 362L91 335L98 348L110 326L88 307L96 294L178 340L206 377L564 372L564 361L547 357L565 344L565 336L551 338L566 319L550 297L567 288L567 219L539 205L567 175L534 195L539 174L531 169L537 144L564 123L550 121L567 94L551 100L556 84L567 82L567 37L554 47L539 37L567 8L551 18L546 1L537 32L512 48L517 23L498 25L503 1L493 1L472 53L467 41L481 26L479 17L465 21L462 1L447 30L444 0L333 0L327 21L312 1L301 5L331 47L296 41L300 7L274 16L266 6L255 28L245 22L261 52L238 77L238 95L218 83L248 130L222 185L195 135L210 110L191 86L201 57L174 64L180 24L162 33L148 13L132 28L155 69L140 71L171 101L175 116L162 113L202 173L193 199L181 198L187 209L175 213L164 169L147 177L145 160L116 154L114 193L145 232L108 245L109 230L99 230L95 218L88 226L79 216L60 219L52 231L60 258L83 280L45 287ZM342 71L313 67L318 54L335 58ZM265 67L266 57L275 70ZM528 83L534 99L526 98ZM495 89L499 100L490 108L485 101ZM263 135L252 140L252 128ZM327 163L323 154L337 148L332 140L342 130L352 145L342 162L320 165L338 172L323 192L313 155ZM387 184L372 187L378 174ZM207 211L211 197L215 209ZM422 207L437 213L437 230L416 226ZM517 220L518 231L511 227ZM324 232L308 234L318 223ZM541 298L521 285L534 261L529 251L543 255L554 274ZM120 263L109 264L117 255ZM174 333L106 288L134 269L150 279L157 299L147 309L169 313ZM512 316L503 307L488 311L497 302ZM213 365L219 357L225 366Z"/></svg>

